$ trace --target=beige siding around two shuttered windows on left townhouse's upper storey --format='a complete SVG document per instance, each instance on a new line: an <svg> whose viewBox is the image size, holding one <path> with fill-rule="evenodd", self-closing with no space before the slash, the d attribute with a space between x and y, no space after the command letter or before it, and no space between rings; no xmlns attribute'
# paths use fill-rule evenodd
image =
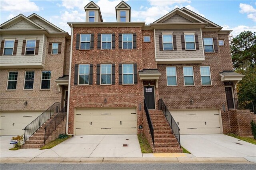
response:
<svg viewBox="0 0 256 170"><path fill-rule="evenodd" d="M18 40L17 54L13 56L1 56L0 64L42 63L43 35L2 35L1 41L5 38L15 38L15 40ZM22 42L26 40L26 38L36 38L36 40L40 40L38 55L21 55Z"/></svg>

